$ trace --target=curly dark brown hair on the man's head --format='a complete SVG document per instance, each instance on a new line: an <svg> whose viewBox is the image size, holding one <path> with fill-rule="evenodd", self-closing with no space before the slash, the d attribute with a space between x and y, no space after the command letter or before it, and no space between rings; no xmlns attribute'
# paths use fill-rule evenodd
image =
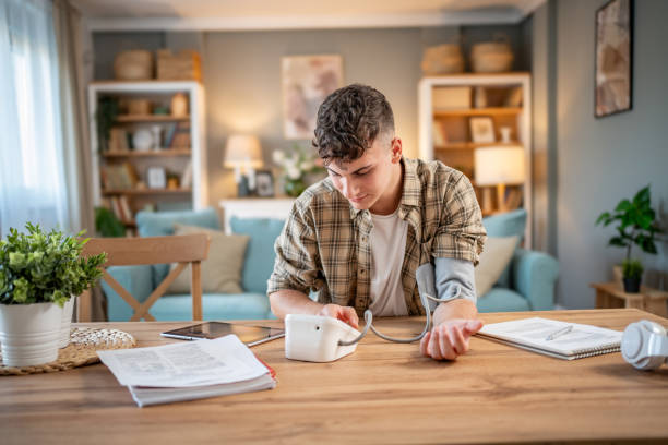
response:
<svg viewBox="0 0 668 445"><path fill-rule="evenodd" d="M380 134L394 134L394 115L385 96L353 84L332 93L318 110L313 147L325 165L351 161L365 154Z"/></svg>

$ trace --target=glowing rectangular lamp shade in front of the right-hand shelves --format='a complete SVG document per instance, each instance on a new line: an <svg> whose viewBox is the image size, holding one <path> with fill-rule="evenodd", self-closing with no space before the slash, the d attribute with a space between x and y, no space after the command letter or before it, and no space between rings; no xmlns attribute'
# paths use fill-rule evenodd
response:
<svg viewBox="0 0 668 445"><path fill-rule="evenodd" d="M524 148L521 146L476 148L476 185L523 183L524 157Z"/></svg>

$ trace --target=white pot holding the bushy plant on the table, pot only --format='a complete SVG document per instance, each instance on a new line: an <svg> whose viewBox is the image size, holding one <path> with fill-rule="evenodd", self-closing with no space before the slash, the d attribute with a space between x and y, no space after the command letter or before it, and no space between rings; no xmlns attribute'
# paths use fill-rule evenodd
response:
<svg viewBox="0 0 668 445"><path fill-rule="evenodd" d="M5 366L31 366L58 358L62 308L56 303L0 304L0 344Z"/></svg>

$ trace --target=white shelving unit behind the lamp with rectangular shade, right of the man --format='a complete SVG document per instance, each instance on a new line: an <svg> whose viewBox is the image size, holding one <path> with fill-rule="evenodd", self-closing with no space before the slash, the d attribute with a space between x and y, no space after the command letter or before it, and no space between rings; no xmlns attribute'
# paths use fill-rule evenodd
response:
<svg viewBox="0 0 668 445"><path fill-rule="evenodd" d="M433 104L436 88L442 87L470 87L472 92L479 89L501 91L521 88L522 99L520 106L490 104L479 108L474 107L475 97L472 97L468 107L461 109L437 110ZM473 154L477 147L489 145L503 145L502 143L474 143L470 136L463 137L458 131L458 139L449 141L444 146L434 145L433 127L434 121L446 122L448 120L460 120L460 125L465 124L472 117L489 116L494 122L502 121L513 127L513 145L522 145L525 153L525 180L522 184L522 207L527 212L527 224L524 245L530 249L532 243L532 92L530 75L528 73L500 73L500 74L455 74L434 77L424 77L418 86L418 136L419 157L425 160L441 159L451 167L457 167L449 163L451 159L463 159L463 164L469 164L473 168ZM456 122L455 122L456 123ZM498 129L497 129L498 130ZM467 130L466 130L467 131ZM498 132L498 131L497 131ZM497 140L499 136L497 135ZM470 160L467 160L470 159ZM465 171L466 172L466 171ZM469 178L473 182L474 178ZM479 189L475 182L474 187ZM479 192L479 190L477 190Z"/></svg>

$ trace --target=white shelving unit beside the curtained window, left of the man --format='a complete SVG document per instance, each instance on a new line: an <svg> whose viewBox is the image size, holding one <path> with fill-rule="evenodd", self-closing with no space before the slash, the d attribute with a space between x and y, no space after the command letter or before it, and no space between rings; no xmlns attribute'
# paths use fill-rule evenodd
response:
<svg viewBox="0 0 668 445"><path fill-rule="evenodd" d="M117 119L119 127L129 125L140 128L142 125L165 125L178 121L190 123L190 147L164 148L153 152L105 152L100 153L98 147L98 135L95 115L102 97L118 98L156 98L163 104L169 104L170 97L176 93L183 93L188 98L189 115L183 118L160 115L122 115ZM91 134L91 159L92 178L94 190L94 203L102 204L102 200L109 195L123 195L129 200L141 200L141 203L159 202L165 199L182 199L192 204L192 208L201 209L208 205L208 190L206 180L206 137L205 137L205 107L204 88L194 81L103 81L93 82L88 85L88 118ZM134 164L150 163L178 165L192 165L192 184L176 190L169 189L141 189L141 190L103 190L100 182L100 166L106 163L129 161ZM143 177L142 177L143 179ZM167 196L167 197L166 197ZM139 206L134 206L138 211ZM133 221L124 221L131 227Z"/></svg>

